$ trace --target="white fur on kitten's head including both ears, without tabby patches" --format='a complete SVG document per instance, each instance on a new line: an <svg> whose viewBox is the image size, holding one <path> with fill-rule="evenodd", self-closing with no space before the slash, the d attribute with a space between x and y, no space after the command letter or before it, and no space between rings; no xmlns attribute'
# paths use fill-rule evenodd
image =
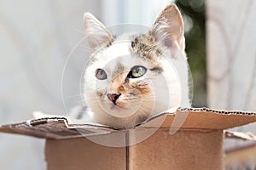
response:
<svg viewBox="0 0 256 170"><path fill-rule="evenodd" d="M152 27L153 35L158 43L162 44L158 44L162 55L155 56L163 68L158 75L150 71L154 63L131 54L130 34L121 35L108 48L102 48L102 44L106 47L108 42L113 40L111 32L91 14L84 14L84 22L85 33L90 36L89 44L94 49L94 54L84 72L83 97L84 104L88 107L87 113L95 122L112 127L134 127L144 121L145 117L180 106L190 106L183 21L174 4L166 7ZM113 105L106 94L112 93L113 89L109 86L114 81L113 71L118 63L125 67L125 71L120 73L123 81L133 66L146 67L148 71L143 77L131 78L129 81L148 82L150 94L138 94L133 99L127 99L129 102L126 102L124 107ZM96 79L97 69L106 71L108 79ZM120 95L119 99L125 100L125 97Z"/></svg>

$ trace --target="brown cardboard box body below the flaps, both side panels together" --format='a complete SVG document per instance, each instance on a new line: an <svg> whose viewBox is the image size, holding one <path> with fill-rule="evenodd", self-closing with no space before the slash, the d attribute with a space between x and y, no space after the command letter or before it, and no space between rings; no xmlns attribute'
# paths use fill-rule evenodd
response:
<svg viewBox="0 0 256 170"><path fill-rule="evenodd" d="M132 139L129 133L129 139ZM127 136L126 136L127 138ZM47 139L45 157L55 169L223 169L223 130L158 129L141 143L111 148L88 139Z"/></svg>

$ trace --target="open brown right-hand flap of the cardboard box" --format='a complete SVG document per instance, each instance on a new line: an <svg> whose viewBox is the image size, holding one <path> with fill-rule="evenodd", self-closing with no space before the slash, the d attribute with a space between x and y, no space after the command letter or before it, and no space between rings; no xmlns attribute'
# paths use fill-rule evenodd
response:
<svg viewBox="0 0 256 170"><path fill-rule="evenodd" d="M256 122L256 115L253 112L217 111L200 108L177 110L175 115L177 114L188 115L182 127L190 129L227 129ZM175 115L166 116L166 120L161 127L170 127ZM152 122L156 121L156 119L152 120Z"/></svg>

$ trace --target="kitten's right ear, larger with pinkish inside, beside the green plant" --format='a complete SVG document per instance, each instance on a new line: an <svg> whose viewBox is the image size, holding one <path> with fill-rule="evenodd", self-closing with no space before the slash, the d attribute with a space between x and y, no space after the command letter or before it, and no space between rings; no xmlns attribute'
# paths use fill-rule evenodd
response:
<svg viewBox="0 0 256 170"><path fill-rule="evenodd" d="M164 42L168 48L177 42L180 50L184 51L184 26L183 18L177 6L172 3L168 5L154 21L151 29L154 37L159 42Z"/></svg>

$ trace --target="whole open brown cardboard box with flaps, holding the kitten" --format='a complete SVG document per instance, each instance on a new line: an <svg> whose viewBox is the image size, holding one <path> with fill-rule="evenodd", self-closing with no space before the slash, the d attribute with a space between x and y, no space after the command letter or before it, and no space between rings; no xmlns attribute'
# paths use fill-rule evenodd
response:
<svg viewBox="0 0 256 170"><path fill-rule="evenodd" d="M187 114L182 127L171 135L174 118ZM156 126L155 122L163 117L160 127ZM250 122L256 122L255 113L201 108L161 114L131 130L94 124L74 125L68 124L65 117L50 117L5 125L0 127L0 132L46 139L45 160L49 170L216 170L224 169L224 129ZM137 138L150 129L154 129L154 133L136 143ZM119 145L115 145L116 142ZM120 147L108 147L108 144Z"/></svg>

